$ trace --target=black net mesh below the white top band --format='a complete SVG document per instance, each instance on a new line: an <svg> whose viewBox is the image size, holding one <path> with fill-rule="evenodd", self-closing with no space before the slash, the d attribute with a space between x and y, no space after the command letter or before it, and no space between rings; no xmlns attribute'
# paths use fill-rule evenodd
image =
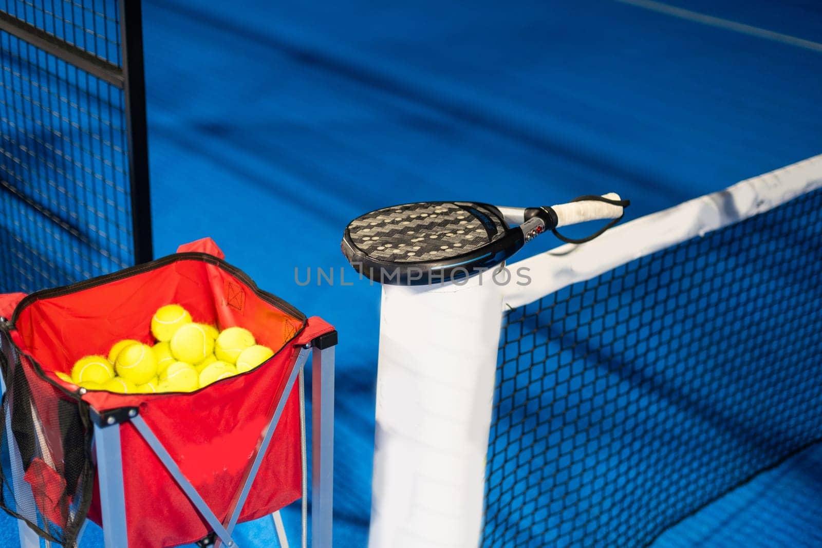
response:
<svg viewBox="0 0 822 548"><path fill-rule="evenodd" d="M510 311L483 546L645 546L822 440L820 210L814 191Z"/></svg>

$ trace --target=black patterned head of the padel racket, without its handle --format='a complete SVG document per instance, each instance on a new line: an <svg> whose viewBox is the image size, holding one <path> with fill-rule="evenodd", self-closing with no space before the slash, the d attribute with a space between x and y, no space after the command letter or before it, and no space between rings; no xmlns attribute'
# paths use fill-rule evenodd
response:
<svg viewBox="0 0 822 548"><path fill-rule="evenodd" d="M493 205L441 201L364 214L345 229L342 249L368 279L424 285L498 265L523 242L522 231L510 229Z"/></svg>

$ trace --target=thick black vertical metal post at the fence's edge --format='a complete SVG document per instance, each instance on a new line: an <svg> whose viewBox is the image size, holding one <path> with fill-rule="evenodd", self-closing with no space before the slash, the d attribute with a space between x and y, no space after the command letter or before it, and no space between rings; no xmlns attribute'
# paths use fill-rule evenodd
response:
<svg viewBox="0 0 822 548"><path fill-rule="evenodd" d="M145 121L145 71L140 0L120 0L122 72L125 76L128 174L132 191L132 230L136 264L154 258L151 242L148 125Z"/></svg>

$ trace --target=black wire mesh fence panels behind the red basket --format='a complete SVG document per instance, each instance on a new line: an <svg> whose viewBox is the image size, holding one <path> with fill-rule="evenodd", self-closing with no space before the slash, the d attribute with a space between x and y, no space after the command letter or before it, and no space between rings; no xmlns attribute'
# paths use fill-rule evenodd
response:
<svg viewBox="0 0 822 548"><path fill-rule="evenodd" d="M113 0L0 6L121 63ZM133 265L123 91L2 30L0 59L0 292Z"/></svg>

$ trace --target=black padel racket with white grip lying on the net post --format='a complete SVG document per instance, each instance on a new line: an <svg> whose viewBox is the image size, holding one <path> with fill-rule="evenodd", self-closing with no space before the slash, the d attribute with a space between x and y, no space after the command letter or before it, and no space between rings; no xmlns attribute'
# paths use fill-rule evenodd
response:
<svg viewBox="0 0 822 548"><path fill-rule="evenodd" d="M546 230L564 242L587 242L617 223L629 204L611 193L527 209L463 201L394 205L351 221L342 249L354 269L375 282L441 283L500 265ZM613 220L582 240L556 232L595 219Z"/></svg>

